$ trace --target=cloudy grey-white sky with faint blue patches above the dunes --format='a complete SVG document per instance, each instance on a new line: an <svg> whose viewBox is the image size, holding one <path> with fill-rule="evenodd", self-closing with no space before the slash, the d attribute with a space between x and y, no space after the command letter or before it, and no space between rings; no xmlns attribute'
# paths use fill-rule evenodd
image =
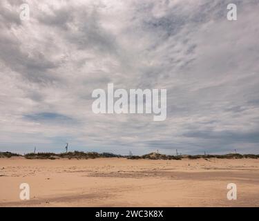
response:
<svg viewBox="0 0 259 221"><path fill-rule="evenodd" d="M258 12L258 0L1 0L0 151L258 154ZM166 88L166 120L94 114L108 83Z"/></svg>

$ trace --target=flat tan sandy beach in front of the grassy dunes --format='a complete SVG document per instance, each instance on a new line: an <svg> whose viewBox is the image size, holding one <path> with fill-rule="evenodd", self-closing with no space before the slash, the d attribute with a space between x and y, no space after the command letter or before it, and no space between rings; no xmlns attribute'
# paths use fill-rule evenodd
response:
<svg viewBox="0 0 259 221"><path fill-rule="evenodd" d="M0 159L0 206L259 206L259 160ZM30 185L30 200L19 185ZM227 200L227 184L238 199Z"/></svg>

